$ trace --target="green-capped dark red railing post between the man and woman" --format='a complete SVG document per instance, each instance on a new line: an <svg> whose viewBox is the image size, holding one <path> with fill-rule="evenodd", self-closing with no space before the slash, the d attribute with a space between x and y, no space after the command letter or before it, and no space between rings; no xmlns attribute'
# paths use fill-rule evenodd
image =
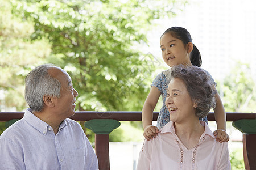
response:
<svg viewBox="0 0 256 170"><path fill-rule="evenodd" d="M95 133L95 152L100 170L110 170L109 163L109 133L120 126L113 119L93 119L85 122L85 127Z"/></svg>

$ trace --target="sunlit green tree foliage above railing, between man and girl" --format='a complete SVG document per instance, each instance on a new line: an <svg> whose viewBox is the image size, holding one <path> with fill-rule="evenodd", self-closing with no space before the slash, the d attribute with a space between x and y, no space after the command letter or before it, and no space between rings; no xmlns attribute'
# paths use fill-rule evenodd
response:
<svg viewBox="0 0 256 170"><path fill-rule="evenodd" d="M7 1L5 3L7 5ZM73 86L79 92L77 109L140 111L150 89L151 80L147 78L154 67L142 61L143 52L137 47L147 42L146 33L154 19L174 15L176 5L182 7L184 2L170 0L164 3L151 0L13 0L10 20L18 20L22 26L13 24L10 27L18 27L18 31L26 27L27 32L17 33L18 39L12 43L17 49L17 63L1 63L8 69L18 66L6 81L11 86L23 84L22 78L28 70L39 63L51 62L71 75ZM13 31L9 31L6 35L12 36ZM16 45L18 40L23 48ZM2 49L2 56L13 60L15 55L11 56L8 51ZM20 74L22 78L13 77ZM14 80L19 81L13 83ZM0 87L3 88L3 84ZM24 107L23 103L11 103Z"/></svg>

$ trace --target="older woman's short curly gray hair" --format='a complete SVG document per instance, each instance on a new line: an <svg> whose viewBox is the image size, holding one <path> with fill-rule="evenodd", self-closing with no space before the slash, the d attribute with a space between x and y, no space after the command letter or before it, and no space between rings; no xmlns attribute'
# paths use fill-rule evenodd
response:
<svg viewBox="0 0 256 170"><path fill-rule="evenodd" d="M213 84L210 76L197 66L184 67L174 66L171 69L172 78L183 80L191 99L197 103L196 116L203 118L207 116L211 108L215 108L216 100Z"/></svg>

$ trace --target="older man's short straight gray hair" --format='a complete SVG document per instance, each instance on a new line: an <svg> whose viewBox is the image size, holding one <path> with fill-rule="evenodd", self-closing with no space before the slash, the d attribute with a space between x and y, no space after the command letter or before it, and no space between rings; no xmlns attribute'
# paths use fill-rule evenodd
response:
<svg viewBox="0 0 256 170"><path fill-rule="evenodd" d="M25 99L32 111L41 112L44 108L43 96L60 97L61 84L59 80L49 75L48 70L56 67L44 64L35 67L25 79Z"/></svg>

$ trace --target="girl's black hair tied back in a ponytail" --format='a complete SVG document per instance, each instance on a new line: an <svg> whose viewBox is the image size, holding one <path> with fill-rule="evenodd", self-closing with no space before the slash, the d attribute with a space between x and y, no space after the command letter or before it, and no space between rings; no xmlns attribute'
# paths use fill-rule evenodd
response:
<svg viewBox="0 0 256 170"><path fill-rule="evenodd" d="M166 33L171 33L171 35L173 37L181 40L183 42L184 46L187 45L188 42L192 42L191 35L185 28L171 27L171 28L168 28L166 31L164 31L163 35L165 35ZM193 50L190 54L190 61L191 61L192 65L194 65L194 66L201 67L201 65L202 65L201 54L200 54L199 50L196 48L195 44L193 44Z"/></svg>

